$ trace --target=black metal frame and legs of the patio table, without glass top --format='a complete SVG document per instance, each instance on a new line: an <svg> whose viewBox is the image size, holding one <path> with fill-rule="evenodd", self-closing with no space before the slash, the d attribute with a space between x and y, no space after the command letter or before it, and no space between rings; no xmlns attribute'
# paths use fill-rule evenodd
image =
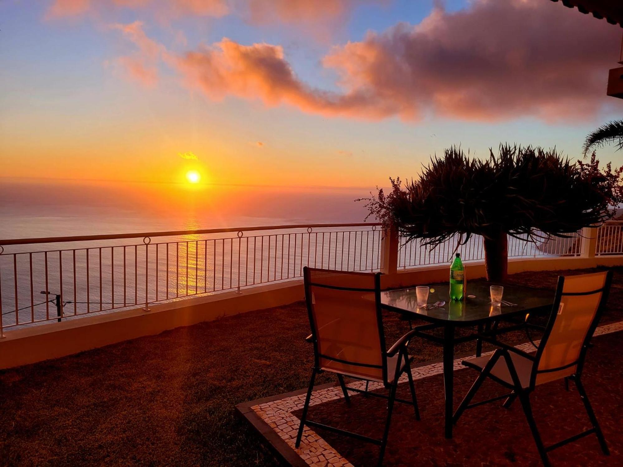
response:
<svg viewBox="0 0 623 467"><path fill-rule="evenodd" d="M527 289L527 288L526 288ZM552 296L553 301L553 296ZM422 319L422 321L429 321L430 324L424 324L417 326L419 332L417 336L427 339L432 342L442 344L444 350L443 366L444 366L444 399L445 399L445 415L444 415L444 432L445 437L452 438L452 415L454 413L454 347L456 344L462 342L477 341L476 356L479 357L482 352L482 341L478 338L479 335L487 334L488 336L495 336L498 334L508 333L515 331L516 329L525 329L526 323L515 323L511 326L505 327L501 330L497 329L497 324L500 321L511 321L512 318L520 316L526 316L526 314L543 314L551 311L551 305L538 306L536 308L521 308L513 310L513 308L504 308L504 313L495 316L488 316L487 318L474 319L472 321L454 321L449 319L439 319L425 314L414 313L407 309L399 308L397 306L391 306L389 304L382 303L381 308L387 311L393 311L400 313L409 319ZM455 337L456 328L472 328L477 326L478 333L472 333L468 336ZM444 336L437 337L426 333L431 329L444 328Z"/></svg>

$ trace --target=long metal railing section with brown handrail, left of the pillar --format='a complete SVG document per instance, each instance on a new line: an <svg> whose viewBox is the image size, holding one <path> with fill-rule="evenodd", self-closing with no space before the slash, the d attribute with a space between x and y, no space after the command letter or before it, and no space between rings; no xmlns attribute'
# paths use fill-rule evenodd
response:
<svg viewBox="0 0 623 467"><path fill-rule="evenodd" d="M152 303L292 280L302 277L304 266L376 271L382 247L378 225L0 240L0 333L128 307L148 311Z"/></svg>

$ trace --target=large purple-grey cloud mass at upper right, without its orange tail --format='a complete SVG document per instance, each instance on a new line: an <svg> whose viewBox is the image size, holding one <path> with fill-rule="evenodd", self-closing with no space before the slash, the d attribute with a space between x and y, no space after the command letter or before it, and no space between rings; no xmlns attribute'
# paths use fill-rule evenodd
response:
<svg viewBox="0 0 623 467"><path fill-rule="evenodd" d="M553 2L478 0L369 33L323 63L348 92L374 95L403 118L428 110L464 120L582 118L606 99L620 34Z"/></svg>

